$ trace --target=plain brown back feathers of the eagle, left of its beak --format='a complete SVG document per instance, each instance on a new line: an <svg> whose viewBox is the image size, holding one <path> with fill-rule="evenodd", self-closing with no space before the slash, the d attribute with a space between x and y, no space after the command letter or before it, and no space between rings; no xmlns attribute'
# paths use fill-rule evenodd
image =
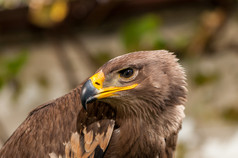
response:
<svg viewBox="0 0 238 158"><path fill-rule="evenodd" d="M64 155L64 145L76 131L81 109L80 87L34 109L0 150L1 158Z"/></svg>

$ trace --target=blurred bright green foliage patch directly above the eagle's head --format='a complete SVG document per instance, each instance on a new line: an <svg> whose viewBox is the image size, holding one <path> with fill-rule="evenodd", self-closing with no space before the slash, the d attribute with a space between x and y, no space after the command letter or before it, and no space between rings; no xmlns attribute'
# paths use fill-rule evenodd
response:
<svg viewBox="0 0 238 158"><path fill-rule="evenodd" d="M122 42L129 51L143 49L147 45L163 47L165 42L162 38L157 39L159 27L160 19L153 14L132 19L122 28Z"/></svg>

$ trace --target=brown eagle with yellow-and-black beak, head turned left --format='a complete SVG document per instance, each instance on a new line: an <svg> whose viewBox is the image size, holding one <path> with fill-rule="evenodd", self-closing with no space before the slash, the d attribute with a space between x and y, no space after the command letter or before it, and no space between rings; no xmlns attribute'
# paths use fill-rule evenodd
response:
<svg viewBox="0 0 238 158"><path fill-rule="evenodd" d="M34 109L1 158L172 158L186 102L173 53L111 59L70 93Z"/></svg>

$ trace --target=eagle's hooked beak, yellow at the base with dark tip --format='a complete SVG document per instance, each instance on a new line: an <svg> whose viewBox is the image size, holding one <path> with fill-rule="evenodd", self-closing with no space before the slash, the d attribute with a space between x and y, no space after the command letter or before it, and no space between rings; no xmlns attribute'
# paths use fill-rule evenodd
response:
<svg viewBox="0 0 238 158"><path fill-rule="evenodd" d="M104 73L99 71L90 77L82 87L81 90L81 102L84 109L87 109L87 104L97 99L107 98L115 96L115 92L124 91L135 88L138 84L133 84L125 87L106 87L103 88L103 82L105 80Z"/></svg>

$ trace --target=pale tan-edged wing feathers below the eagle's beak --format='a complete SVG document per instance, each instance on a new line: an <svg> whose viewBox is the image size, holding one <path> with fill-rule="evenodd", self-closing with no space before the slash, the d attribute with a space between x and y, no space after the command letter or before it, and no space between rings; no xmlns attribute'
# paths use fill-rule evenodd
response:
<svg viewBox="0 0 238 158"><path fill-rule="evenodd" d="M97 124L104 124L104 126L98 126ZM96 127L91 128L91 126ZM112 136L114 121L102 120L91 124L88 128L91 130L87 132L87 127L85 127L82 135L77 132L72 134L70 142L66 143L65 146L66 157L93 157L97 146L100 146L103 152L105 151Z"/></svg>

